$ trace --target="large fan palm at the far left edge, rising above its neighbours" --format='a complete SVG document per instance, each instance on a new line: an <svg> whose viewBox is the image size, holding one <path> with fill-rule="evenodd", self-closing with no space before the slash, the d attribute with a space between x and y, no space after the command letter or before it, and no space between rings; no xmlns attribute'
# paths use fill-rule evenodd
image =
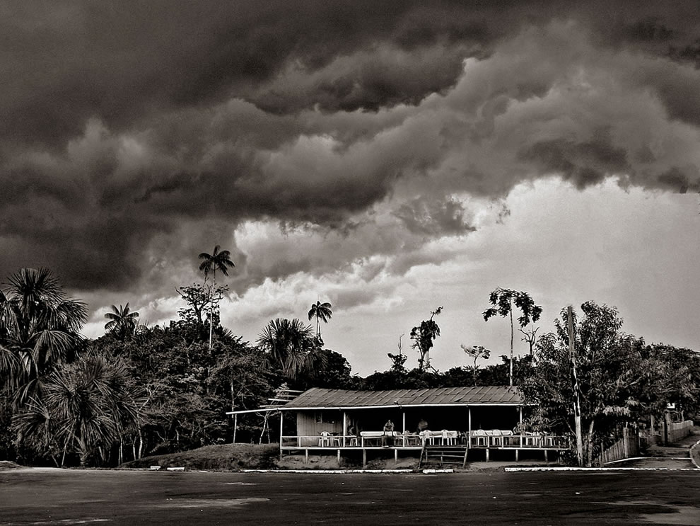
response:
<svg viewBox="0 0 700 526"><path fill-rule="evenodd" d="M22 268L6 285L0 293L0 377L21 405L42 377L75 352L88 309L66 297L46 268Z"/></svg>

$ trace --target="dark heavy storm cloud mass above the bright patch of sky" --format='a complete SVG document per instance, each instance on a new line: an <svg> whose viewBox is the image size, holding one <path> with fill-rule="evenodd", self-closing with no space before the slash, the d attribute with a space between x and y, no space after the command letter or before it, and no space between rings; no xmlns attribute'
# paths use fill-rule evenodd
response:
<svg viewBox="0 0 700 526"><path fill-rule="evenodd" d="M246 220L356 236L359 257L409 246L405 271L426 259L416 239L470 230L454 193L501 196L544 173L698 188L683 147L636 140L571 80L599 67L614 78L601 90L629 90L630 122L651 93L692 142L694 2L511 4L3 4L0 272L43 264L70 287L120 290L233 244ZM566 115L577 104L582 122ZM407 239L361 250L385 201ZM320 257L239 270L259 282L337 263Z"/></svg>

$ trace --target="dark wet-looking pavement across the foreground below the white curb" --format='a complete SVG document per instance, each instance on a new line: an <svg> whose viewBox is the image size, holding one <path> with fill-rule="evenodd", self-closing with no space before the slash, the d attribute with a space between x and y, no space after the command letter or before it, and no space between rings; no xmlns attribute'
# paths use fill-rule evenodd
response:
<svg viewBox="0 0 700 526"><path fill-rule="evenodd" d="M700 525L700 472L0 472L0 525Z"/></svg>

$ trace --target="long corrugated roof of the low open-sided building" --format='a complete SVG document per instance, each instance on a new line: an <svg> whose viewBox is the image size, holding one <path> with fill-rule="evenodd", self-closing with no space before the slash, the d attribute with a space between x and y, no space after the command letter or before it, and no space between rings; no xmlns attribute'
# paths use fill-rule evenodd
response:
<svg viewBox="0 0 700 526"><path fill-rule="evenodd" d="M346 391L315 387L281 406L285 409L317 407L440 406L477 404L523 404L515 387L439 387L437 389L392 389L390 391Z"/></svg>

